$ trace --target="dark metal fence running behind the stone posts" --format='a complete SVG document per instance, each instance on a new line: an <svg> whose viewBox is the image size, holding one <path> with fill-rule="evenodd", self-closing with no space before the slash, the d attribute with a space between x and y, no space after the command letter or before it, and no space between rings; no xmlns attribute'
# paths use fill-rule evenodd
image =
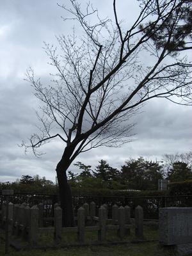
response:
<svg viewBox="0 0 192 256"><path fill-rule="evenodd" d="M3 195L0 195L0 200L2 202L5 200ZM44 204L44 217L53 216L53 205L58 202L58 195L42 195L38 193L15 193L15 195L10 196L10 202L13 204L22 204L26 202L29 206L39 204L42 202ZM159 207L192 207L192 195L180 195L180 196L82 196L74 195L73 204L74 212L77 214L77 209L83 205L85 202L90 204L90 202L95 202L96 213L100 205L107 204L109 212L111 212L112 205L116 204L118 206L129 205L131 207L131 216L134 216L134 209L137 205L143 207L143 212L145 218L148 219L158 219L158 209ZM109 216L110 217L110 216Z"/></svg>

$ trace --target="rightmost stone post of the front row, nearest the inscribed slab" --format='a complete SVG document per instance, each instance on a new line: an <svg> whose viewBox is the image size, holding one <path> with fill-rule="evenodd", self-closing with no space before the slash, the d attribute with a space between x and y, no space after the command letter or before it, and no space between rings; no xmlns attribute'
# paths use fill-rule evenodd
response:
<svg viewBox="0 0 192 256"><path fill-rule="evenodd" d="M143 208L140 205L135 209L135 235L143 238Z"/></svg>

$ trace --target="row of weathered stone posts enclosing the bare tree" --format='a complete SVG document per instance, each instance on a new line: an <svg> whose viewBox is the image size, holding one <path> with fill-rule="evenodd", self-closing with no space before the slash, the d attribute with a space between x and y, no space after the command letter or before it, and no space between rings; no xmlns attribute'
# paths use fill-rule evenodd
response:
<svg viewBox="0 0 192 256"><path fill-rule="evenodd" d="M9 234L15 236L28 237L29 243L36 244L38 241L38 228L43 227L44 205L39 204L29 207L26 203L22 205L12 203L8 204L9 208ZM2 206L2 221L5 221L6 204ZM86 230L85 221L92 220L96 215L96 205L92 202L90 205L84 204L77 210L77 239L80 243L84 243L84 232ZM125 230L129 234L129 228L126 225L131 224L130 207L112 207L112 225L118 225L118 236L122 239L125 236ZM105 241L108 230L108 207L106 204L99 208L99 218L97 226L90 230L98 230L98 240ZM135 209L135 234L136 237L143 237L143 209L138 206ZM113 227L111 227L113 229ZM116 228L115 228L116 229ZM126 234L127 234L126 232ZM62 233L62 209L58 204L54 205L54 240L60 243ZM28 236L27 236L28 235Z"/></svg>

